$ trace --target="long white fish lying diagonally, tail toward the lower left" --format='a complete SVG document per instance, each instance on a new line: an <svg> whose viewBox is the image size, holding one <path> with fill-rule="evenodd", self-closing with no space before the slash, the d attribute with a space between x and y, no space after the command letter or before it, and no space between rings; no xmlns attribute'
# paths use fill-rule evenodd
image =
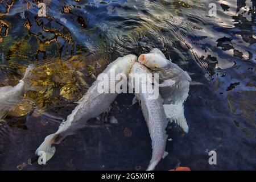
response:
<svg viewBox="0 0 256 182"><path fill-rule="evenodd" d="M109 64L101 75L108 75L111 77L113 69L115 75L125 74L129 75L133 64L137 60L135 55L127 55L119 57L113 63ZM120 80L116 80L115 84ZM86 125L86 121L90 118L95 118L101 113L109 110L110 105L117 97L117 93L100 93L98 92L98 85L102 85L102 80L96 80L86 94L81 98L79 105L68 116L67 120L61 123L59 130L55 134L48 135L44 142L36 150L35 154L40 155L42 152L46 153L46 161L51 159L55 153L55 147L52 144L58 144L68 135L75 133L77 129Z"/></svg>

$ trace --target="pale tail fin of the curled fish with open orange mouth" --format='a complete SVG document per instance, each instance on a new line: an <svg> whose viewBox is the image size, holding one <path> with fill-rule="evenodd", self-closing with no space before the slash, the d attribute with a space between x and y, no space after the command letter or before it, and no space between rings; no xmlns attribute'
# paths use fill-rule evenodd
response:
<svg viewBox="0 0 256 182"><path fill-rule="evenodd" d="M170 119L171 122L175 122L177 125L183 129L185 133L188 133L189 127L184 116L183 105L163 105L166 117Z"/></svg>

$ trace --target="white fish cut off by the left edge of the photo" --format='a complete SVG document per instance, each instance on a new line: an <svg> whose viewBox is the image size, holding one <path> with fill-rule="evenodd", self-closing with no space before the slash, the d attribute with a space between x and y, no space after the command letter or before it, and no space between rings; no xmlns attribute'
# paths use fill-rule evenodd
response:
<svg viewBox="0 0 256 182"><path fill-rule="evenodd" d="M33 65L28 65L25 75L16 86L4 86L0 88L0 119L6 117L13 107L18 104L22 94L24 93L24 80L30 76Z"/></svg>

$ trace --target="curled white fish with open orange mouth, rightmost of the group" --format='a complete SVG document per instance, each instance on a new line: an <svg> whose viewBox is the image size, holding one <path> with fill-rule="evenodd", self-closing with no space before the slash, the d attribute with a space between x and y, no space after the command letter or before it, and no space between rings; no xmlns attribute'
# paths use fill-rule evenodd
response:
<svg viewBox="0 0 256 182"><path fill-rule="evenodd" d="M177 123L185 133L188 133L188 124L184 117L183 104L188 97L191 77L159 50L153 49L150 53L139 56L139 62L159 74L159 93L163 98L164 111L171 122Z"/></svg>

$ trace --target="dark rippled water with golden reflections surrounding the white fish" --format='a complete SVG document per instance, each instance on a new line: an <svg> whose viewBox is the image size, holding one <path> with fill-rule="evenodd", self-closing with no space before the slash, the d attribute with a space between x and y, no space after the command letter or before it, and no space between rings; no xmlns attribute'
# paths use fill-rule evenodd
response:
<svg viewBox="0 0 256 182"><path fill-rule="evenodd" d="M1 121L1 170L23 162L23 170L146 169L151 140L133 94L119 95L109 115L56 146L46 166L26 164L59 127L45 113L67 117L111 61L155 47L193 80L189 133L168 127L169 155L156 169L178 162L192 170L256 169L256 1L47 0L46 17L38 16L39 1L0 3L0 86L17 84L36 65L26 100ZM109 123L112 116L118 124ZM208 163L211 150L217 165Z"/></svg>

